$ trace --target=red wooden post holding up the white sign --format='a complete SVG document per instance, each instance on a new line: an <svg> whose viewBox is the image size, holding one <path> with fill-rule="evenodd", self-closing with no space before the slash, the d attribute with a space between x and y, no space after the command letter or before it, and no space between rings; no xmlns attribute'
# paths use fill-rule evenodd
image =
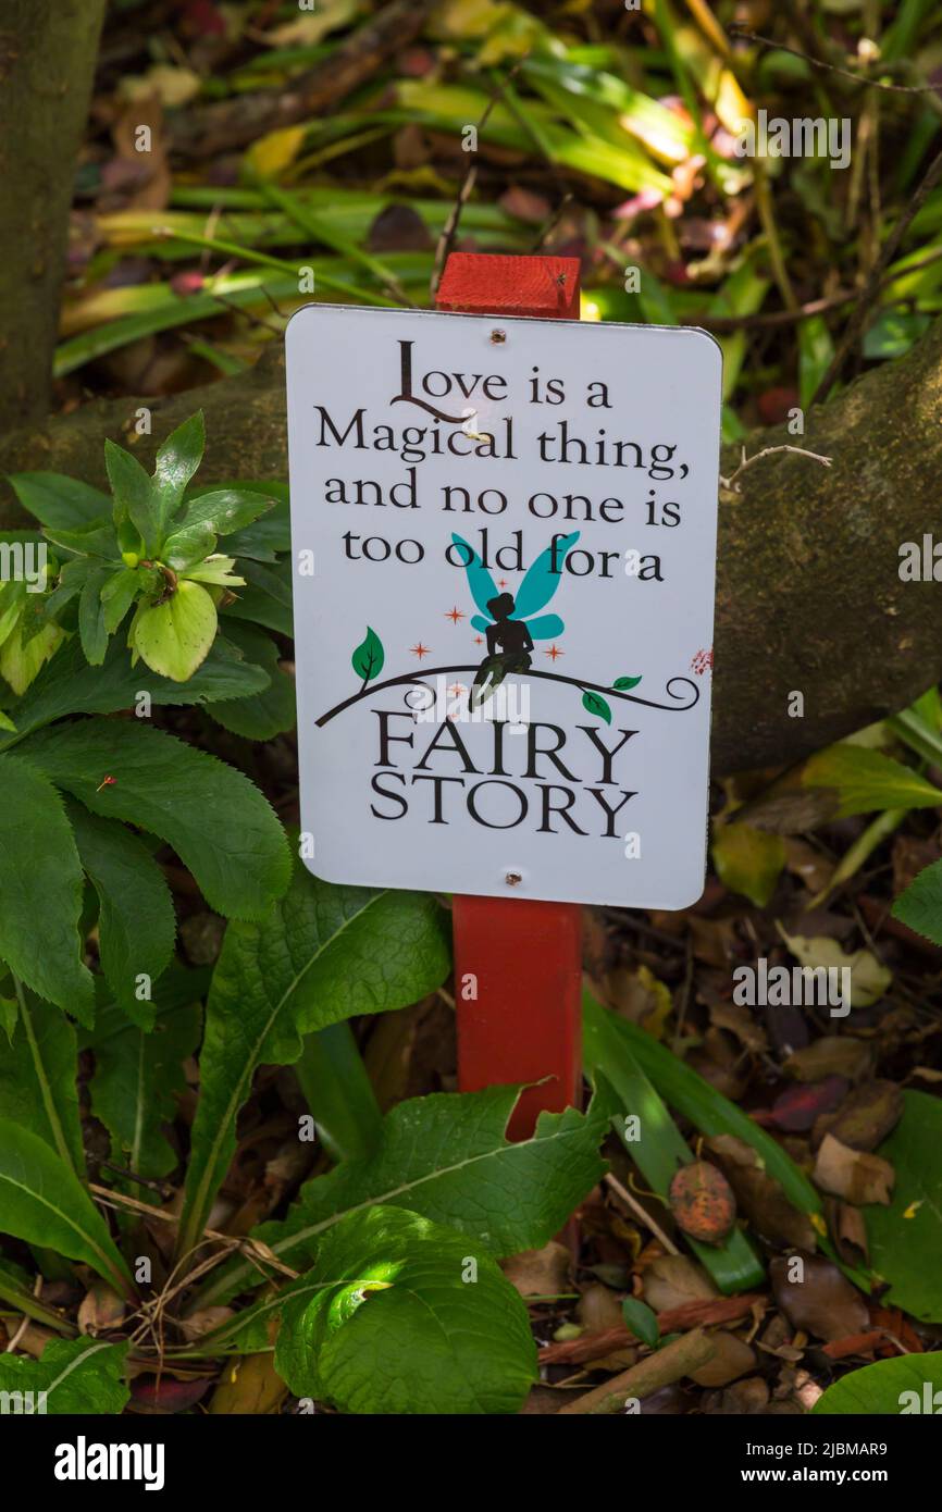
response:
<svg viewBox="0 0 942 1512"><path fill-rule="evenodd" d="M437 305L467 314L579 319L576 257L452 253ZM458 1086L478 1092L540 1081L523 1093L510 1139L528 1139L537 1114L576 1102L582 1074L582 927L575 903L454 900ZM463 978L476 996L463 996ZM543 1080L546 1078L546 1080Z"/></svg>

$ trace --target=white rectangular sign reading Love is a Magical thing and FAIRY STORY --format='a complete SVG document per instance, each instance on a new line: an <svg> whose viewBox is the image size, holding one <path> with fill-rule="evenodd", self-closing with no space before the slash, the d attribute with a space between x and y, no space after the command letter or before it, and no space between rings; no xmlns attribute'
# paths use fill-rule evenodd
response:
<svg viewBox="0 0 942 1512"><path fill-rule="evenodd" d="M301 823L316 875L699 898L720 369L696 330L293 316Z"/></svg>

